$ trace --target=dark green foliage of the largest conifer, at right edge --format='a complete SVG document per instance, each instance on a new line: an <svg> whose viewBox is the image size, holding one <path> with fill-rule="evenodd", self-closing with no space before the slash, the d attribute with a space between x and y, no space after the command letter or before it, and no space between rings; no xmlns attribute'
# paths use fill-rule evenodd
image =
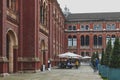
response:
<svg viewBox="0 0 120 80"><path fill-rule="evenodd" d="M119 38L116 38L114 48L111 53L110 67L120 68L120 42Z"/></svg>

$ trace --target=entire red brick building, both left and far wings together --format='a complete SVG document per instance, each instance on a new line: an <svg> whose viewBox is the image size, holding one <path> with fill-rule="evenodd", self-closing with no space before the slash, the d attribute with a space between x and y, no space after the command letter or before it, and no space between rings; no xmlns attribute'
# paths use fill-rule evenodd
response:
<svg viewBox="0 0 120 80"><path fill-rule="evenodd" d="M120 13L64 16L57 0L0 0L0 75L54 66L66 51L101 53L120 37L119 20Z"/></svg>

